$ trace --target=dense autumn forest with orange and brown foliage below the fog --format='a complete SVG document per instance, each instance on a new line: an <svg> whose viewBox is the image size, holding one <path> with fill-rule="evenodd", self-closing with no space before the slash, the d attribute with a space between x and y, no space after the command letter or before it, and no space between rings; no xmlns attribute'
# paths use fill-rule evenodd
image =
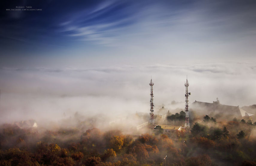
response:
<svg viewBox="0 0 256 166"><path fill-rule="evenodd" d="M208 115L191 120L190 131L168 134L160 127L132 135L98 128L42 132L4 124L0 165L256 165L255 133L251 120L218 122Z"/></svg>

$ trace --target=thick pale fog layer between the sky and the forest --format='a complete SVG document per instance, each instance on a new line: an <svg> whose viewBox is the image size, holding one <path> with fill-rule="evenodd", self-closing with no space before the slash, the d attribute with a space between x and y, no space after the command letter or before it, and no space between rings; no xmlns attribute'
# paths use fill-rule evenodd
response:
<svg viewBox="0 0 256 166"><path fill-rule="evenodd" d="M149 113L154 82L155 110L184 103L186 77L190 103L203 101L232 106L255 104L255 62L219 62L94 68L0 69L0 122L60 120L75 112L85 117L126 117ZM182 106L182 104L181 104ZM183 108L179 106L180 108Z"/></svg>

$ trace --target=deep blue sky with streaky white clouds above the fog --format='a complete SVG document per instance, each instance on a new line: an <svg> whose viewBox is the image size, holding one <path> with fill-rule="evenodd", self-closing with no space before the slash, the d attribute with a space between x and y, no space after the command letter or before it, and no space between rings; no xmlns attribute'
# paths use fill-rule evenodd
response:
<svg viewBox="0 0 256 166"><path fill-rule="evenodd" d="M133 64L134 59L137 64L171 63L255 55L253 0L1 3L1 66L47 66L52 61L76 66L81 60L81 65ZM16 6L42 11L5 11Z"/></svg>

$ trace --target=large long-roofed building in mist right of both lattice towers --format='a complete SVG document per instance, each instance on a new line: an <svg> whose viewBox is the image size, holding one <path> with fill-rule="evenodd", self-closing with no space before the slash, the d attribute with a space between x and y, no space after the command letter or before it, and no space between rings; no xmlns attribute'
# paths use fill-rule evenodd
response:
<svg viewBox="0 0 256 166"><path fill-rule="evenodd" d="M243 110L239 106L220 104L218 98L217 101L213 101L213 103L195 101L191 104L191 109L212 117L228 120L232 120L233 118L249 120L254 116L254 114Z"/></svg>

